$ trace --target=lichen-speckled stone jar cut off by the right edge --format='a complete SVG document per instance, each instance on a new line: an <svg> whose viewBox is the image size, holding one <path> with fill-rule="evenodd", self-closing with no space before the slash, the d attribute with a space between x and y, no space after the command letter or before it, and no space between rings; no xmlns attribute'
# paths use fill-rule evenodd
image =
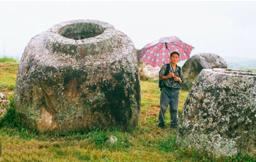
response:
<svg viewBox="0 0 256 162"><path fill-rule="evenodd" d="M256 73L203 69L179 119L178 141L215 156L256 154Z"/></svg>

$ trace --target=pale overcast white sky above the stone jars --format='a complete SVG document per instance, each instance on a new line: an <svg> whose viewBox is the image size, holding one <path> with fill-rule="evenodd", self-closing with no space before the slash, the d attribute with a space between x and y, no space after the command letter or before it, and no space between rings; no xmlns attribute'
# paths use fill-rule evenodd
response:
<svg viewBox="0 0 256 162"><path fill-rule="evenodd" d="M54 24L95 19L126 33L137 49L175 35L191 55L256 58L256 2L0 1L0 57L19 59L28 41Z"/></svg>

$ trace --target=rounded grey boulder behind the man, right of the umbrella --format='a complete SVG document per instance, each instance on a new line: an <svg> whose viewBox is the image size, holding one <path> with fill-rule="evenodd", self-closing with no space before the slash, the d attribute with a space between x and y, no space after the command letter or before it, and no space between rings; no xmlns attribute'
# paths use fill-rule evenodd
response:
<svg viewBox="0 0 256 162"><path fill-rule="evenodd" d="M211 53L199 53L190 57L185 64L182 66L182 72L184 76L184 83L182 84L182 89L190 90L192 85L195 83L197 75L203 69L212 68L227 68L226 61L216 55Z"/></svg>

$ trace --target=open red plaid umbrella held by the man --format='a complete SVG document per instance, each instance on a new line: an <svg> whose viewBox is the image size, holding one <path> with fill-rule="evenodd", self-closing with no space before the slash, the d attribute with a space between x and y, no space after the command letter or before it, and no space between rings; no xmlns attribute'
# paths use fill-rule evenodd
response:
<svg viewBox="0 0 256 162"><path fill-rule="evenodd" d="M170 62L171 52L178 52L179 61L182 61L190 57L192 49L194 49L193 46L180 41L176 36L163 37L157 41L147 44L140 50L140 61L143 61L148 65L152 65L153 67L156 65L161 66L163 63L166 64Z"/></svg>

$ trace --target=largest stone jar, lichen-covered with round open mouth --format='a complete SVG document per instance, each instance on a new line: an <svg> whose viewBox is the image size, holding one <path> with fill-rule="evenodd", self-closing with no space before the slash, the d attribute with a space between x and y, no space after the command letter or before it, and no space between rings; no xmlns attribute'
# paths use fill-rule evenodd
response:
<svg viewBox="0 0 256 162"><path fill-rule="evenodd" d="M140 79L133 42L96 20L39 33L18 67L15 109L27 128L40 132L134 128Z"/></svg>

